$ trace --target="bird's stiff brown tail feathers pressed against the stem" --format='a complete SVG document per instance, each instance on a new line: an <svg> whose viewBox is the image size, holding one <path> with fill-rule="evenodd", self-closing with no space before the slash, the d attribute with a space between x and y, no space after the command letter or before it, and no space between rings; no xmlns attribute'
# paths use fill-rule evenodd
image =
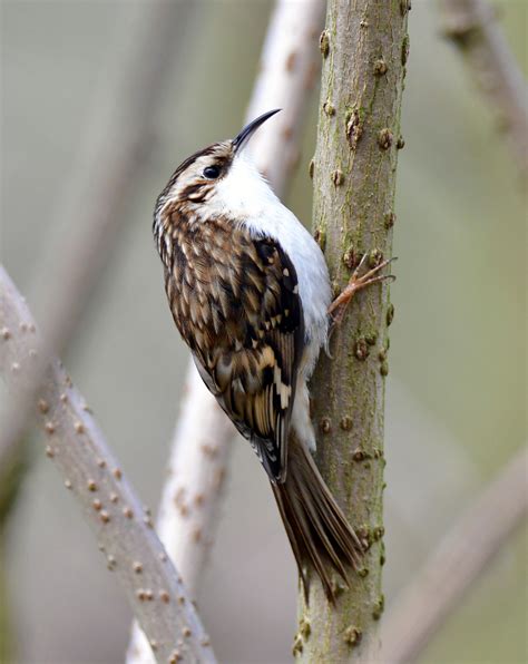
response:
<svg viewBox="0 0 528 664"><path fill-rule="evenodd" d="M305 567L312 567L330 602L335 600L333 568L349 584L346 567L361 566L363 546L326 487L310 452L291 433L287 473L272 484L307 597Z"/></svg>

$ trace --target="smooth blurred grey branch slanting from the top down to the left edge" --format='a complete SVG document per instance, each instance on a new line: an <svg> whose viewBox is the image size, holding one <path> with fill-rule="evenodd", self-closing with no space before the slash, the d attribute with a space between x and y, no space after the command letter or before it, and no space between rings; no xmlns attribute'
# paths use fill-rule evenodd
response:
<svg viewBox="0 0 528 664"><path fill-rule="evenodd" d="M123 13L117 41L120 38L126 48L105 72L90 125L82 133L78 163L65 184L57 214L61 247L38 270L43 286L36 300L43 301L45 358L61 354L67 346L118 237L135 175L153 143L154 110L190 6L151 0L127 4ZM35 362L28 381L32 390L8 412L0 432L0 469L22 438L45 371L45 363Z"/></svg>

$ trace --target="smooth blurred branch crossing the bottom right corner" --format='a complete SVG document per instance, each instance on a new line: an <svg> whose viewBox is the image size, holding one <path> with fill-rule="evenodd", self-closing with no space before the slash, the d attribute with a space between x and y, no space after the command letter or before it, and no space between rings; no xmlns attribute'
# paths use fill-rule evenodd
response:
<svg viewBox="0 0 528 664"><path fill-rule="evenodd" d="M382 662L417 661L447 616L525 523L527 470L525 447L476 498L397 597L383 626Z"/></svg>

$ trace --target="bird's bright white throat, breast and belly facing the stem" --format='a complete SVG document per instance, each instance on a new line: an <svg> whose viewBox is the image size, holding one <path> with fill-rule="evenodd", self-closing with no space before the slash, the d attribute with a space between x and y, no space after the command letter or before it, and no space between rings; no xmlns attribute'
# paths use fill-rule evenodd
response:
<svg viewBox="0 0 528 664"><path fill-rule="evenodd" d="M317 243L244 154L235 157L228 175L218 182L208 204L212 212L241 219L255 236L265 234L276 240L292 261L310 340L304 368L307 378L326 341L326 312L331 302L329 271Z"/></svg>

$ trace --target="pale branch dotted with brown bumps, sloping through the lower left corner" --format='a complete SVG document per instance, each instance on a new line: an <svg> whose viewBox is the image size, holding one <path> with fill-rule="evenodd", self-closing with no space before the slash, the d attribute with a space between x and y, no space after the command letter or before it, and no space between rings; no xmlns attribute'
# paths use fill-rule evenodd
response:
<svg viewBox="0 0 528 664"><path fill-rule="evenodd" d="M43 352L23 299L0 266L0 372L16 397L33 394L31 365ZM38 391L38 426L47 439L46 455L82 506L108 569L116 572L156 657L176 662L179 653L193 662L215 662L150 516L107 448L89 408L57 360L42 363L46 380Z"/></svg>

